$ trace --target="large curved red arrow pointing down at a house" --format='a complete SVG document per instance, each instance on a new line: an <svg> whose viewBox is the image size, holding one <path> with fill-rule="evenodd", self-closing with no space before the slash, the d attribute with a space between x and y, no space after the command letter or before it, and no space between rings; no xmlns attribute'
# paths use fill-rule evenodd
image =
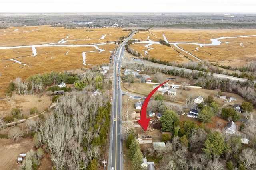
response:
<svg viewBox="0 0 256 170"><path fill-rule="evenodd" d="M166 81L166 82L168 82L168 81ZM144 129L144 131L147 131L148 124L150 121L150 118L147 119L147 113L146 113L148 102L149 102L150 98L152 97L152 95L154 94L154 92L156 92L156 90L158 88L160 88L162 85L164 85L166 82L160 84L154 90L152 90L152 92L150 92L150 94L144 100L144 103L143 103L143 105L141 107L141 111L140 111L140 120L137 121L140 124L140 126Z"/></svg>

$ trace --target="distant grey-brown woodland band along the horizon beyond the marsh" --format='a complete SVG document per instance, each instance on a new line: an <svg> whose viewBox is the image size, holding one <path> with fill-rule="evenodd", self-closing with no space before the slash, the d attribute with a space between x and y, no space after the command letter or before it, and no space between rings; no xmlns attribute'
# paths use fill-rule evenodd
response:
<svg viewBox="0 0 256 170"><path fill-rule="evenodd" d="M55 25L66 28L76 27L166 27L166 28L202 28L232 29L256 28L256 14L210 14L210 13L86 13L86 14L0 14L0 29L10 26ZM90 24L73 24L75 22Z"/></svg>

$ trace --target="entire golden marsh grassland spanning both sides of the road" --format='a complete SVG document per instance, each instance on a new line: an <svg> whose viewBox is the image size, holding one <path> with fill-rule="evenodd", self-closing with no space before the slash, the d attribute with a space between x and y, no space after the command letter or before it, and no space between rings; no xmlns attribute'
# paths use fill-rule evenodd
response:
<svg viewBox="0 0 256 170"><path fill-rule="evenodd" d="M26 79L34 74L82 69L95 64L109 63L110 55L117 46L109 42L116 42L129 33L130 31L124 31L122 28L65 29L49 25L0 30L0 98L4 98L9 82L17 77ZM136 31L132 38L159 42L159 39L164 39L165 36L169 43L209 44L210 39L214 38L255 34L256 29L149 29ZM227 66L243 66L256 58L256 36L226 38L219 41L222 43L214 46L198 47L183 43L178 46L202 61ZM35 47L36 54L32 46ZM161 44L134 43L131 47L142 57L178 63L189 61L188 57L185 57L189 55L172 44L168 47ZM82 53L85 53L86 57L83 57Z"/></svg>

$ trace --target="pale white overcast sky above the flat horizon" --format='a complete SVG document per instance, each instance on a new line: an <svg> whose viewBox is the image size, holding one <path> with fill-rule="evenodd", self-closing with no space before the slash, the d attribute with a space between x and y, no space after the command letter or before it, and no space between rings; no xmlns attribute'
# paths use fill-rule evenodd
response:
<svg viewBox="0 0 256 170"><path fill-rule="evenodd" d="M256 13L256 0L0 0L0 13L9 12Z"/></svg>

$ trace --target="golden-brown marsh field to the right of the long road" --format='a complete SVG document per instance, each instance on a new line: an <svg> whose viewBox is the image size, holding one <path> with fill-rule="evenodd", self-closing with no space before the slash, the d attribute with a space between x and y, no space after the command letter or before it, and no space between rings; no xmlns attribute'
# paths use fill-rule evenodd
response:
<svg viewBox="0 0 256 170"><path fill-rule="evenodd" d="M250 37L239 37L248 35ZM145 44L135 43L133 48L141 53L143 57L154 57L166 61L182 62L180 54L176 52L177 50L194 61L196 59L184 51L198 57L202 61L218 62L227 66L243 66L249 61L256 59L256 36L251 35L256 35L255 29L150 29L149 31L139 31L133 38L140 41L158 41L159 39L164 39L165 36L171 47L166 46L161 51L159 46L153 44L148 46L150 50L146 50L148 48L144 47ZM221 41L220 45L200 47L200 45L189 44L199 43L207 45L212 43L210 39L220 37L227 37L219 40ZM184 51L181 51L172 43L181 43L177 45ZM148 53L145 54L142 50L146 50ZM185 57L183 56L183 58Z"/></svg>

